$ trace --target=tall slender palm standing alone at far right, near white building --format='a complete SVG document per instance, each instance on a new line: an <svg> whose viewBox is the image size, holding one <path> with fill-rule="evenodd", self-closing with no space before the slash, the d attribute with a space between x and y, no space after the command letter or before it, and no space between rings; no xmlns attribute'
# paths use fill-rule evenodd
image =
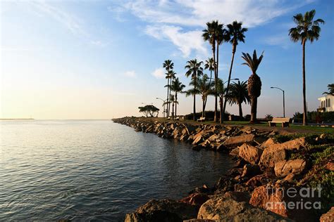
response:
<svg viewBox="0 0 334 222"><path fill-rule="evenodd" d="M289 30L289 35L292 41L301 41L303 48L303 125L307 125L307 105L306 105L306 79L305 79L305 45L307 40L311 41L318 40L320 37L320 24L325 22L318 18L314 20L314 15L316 15L315 10L307 11L304 15L298 13L293 16L293 20L297 27L293 27Z"/></svg>

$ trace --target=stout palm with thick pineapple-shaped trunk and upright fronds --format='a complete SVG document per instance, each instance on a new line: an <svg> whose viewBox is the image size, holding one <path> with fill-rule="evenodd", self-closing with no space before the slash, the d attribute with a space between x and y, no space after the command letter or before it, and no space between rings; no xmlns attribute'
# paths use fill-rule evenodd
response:
<svg viewBox="0 0 334 222"><path fill-rule="evenodd" d="M256 109L257 109L257 98L261 95L261 79L256 74L256 70L259 67L262 58L264 58L264 53L262 52L260 57L257 58L256 50L254 50L253 58L249 53L242 53L242 58L245 60L245 63L242 65L247 65L251 70L252 74L248 79L248 96L251 100L251 123L256 122Z"/></svg>

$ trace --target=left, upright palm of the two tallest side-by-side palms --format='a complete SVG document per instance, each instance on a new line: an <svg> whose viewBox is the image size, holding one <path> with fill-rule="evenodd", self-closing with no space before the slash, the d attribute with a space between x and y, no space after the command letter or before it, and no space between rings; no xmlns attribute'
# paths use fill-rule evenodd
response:
<svg viewBox="0 0 334 222"><path fill-rule="evenodd" d="M216 63L216 41L218 39L218 35L220 34L221 30L223 30L223 24L219 24L218 20L213 20L212 22L206 22L206 29L203 30L202 37L204 41L209 41L212 47L212 55L214 58L214 77L215 82L218 79L218 63ZM215 86L216 88L216 86ZM214 107L214 121L217 121L217 96L215 95L215 107Z"/></svg>

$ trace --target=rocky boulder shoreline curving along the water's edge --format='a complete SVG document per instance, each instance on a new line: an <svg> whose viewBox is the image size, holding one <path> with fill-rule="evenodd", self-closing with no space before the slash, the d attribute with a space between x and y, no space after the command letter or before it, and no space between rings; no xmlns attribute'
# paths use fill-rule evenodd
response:
<svg viewBox="0 0 334 222"><path fill-rule="evenodd" d="M186 141L193 150L225 152L236 162L214 187L194 188L181 200L151 200L125 221L334 221L333 135L141 117L113 122Z"/></svg>

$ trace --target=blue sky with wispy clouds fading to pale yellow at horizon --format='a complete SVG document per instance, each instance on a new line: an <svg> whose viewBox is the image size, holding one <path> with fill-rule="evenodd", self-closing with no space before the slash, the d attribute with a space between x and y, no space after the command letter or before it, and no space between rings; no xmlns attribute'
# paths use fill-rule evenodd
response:
<svg viewBox="0 0 334 222"><path fill-rule="evenodd" d="M302 112L302 46L288 30L292 16L316 9L321 37L306 46L307 105L334 82L334 1L0 1L0 118L111 119L140 116L138 107L166 98L164 60L173 60L188 87L187 60L207 60L211 46L202 39L206 22L242 21L249 28L235 53L232 78L251 73L242 52L264 51L257 74L262 91L258 117ZM228 79L231 44L219 52L219 77ZM209 72L206 70L206 73ZM178 115L192 112L192 98L178 96ZM244 115L250 105L242 105ZM197 112L202 101L197 96ZM214 110L210 97L206 110ZM226 108L237 115L237 105Z"/></svg>

